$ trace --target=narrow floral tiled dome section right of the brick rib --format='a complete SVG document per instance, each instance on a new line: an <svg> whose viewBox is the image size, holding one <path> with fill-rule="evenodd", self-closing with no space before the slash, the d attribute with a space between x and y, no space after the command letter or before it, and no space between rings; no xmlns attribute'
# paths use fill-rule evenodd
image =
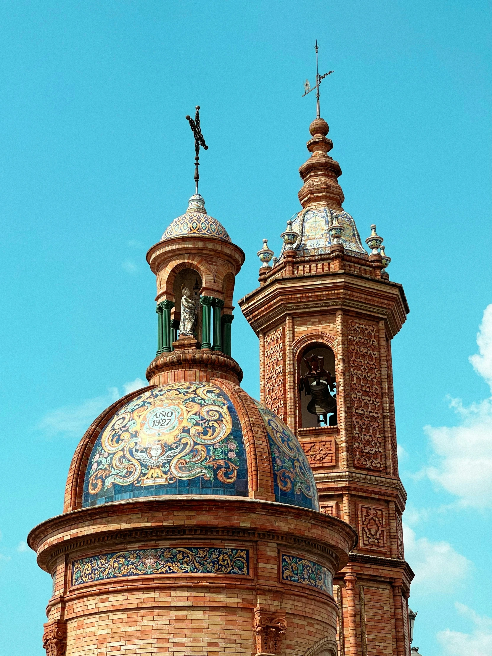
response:
<svg viewBox="0 0 492 656"><path fill-rule="evenodd" d="M313 472L297 438L277 415L262 403L255 403L268 433L276 501L319 510Z"/></svg>

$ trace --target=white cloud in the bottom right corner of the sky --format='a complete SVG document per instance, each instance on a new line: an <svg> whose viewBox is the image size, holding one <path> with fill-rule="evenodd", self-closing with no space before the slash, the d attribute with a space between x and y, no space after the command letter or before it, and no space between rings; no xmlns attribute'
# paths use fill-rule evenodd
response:
<svg viewBox="0 0 492 656"><path fill-rule="evenodd" d="M474 627L471 633L461 633L447 628L439 631L436 638L446 656L490 656L492 653L492 618L478 615L473 609L455 602L457 611L468 617Z"/></svg>

